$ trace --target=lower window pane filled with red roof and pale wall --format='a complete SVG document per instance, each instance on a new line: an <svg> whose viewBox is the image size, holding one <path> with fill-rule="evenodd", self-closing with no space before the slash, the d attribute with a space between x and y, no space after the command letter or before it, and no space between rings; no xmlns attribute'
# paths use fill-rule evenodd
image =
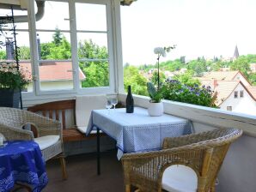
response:
<svg viewBox="0 0 256 192"><path fill-rule="evenodd" d="M44 62L39 70L41 91L73 89L71 62Z"/></svg>

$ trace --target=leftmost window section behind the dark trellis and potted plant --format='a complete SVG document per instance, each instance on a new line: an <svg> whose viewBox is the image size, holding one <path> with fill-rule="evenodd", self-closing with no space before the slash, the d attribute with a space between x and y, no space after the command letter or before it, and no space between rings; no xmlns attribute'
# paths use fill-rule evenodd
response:
<svg viewBox="0 0 256 192"><path fill-rule="evenodd" d="M13 15L27 15L27 11L13 10ZM0 9L0 16L11 18L12 11L11 9ZM3 22L5 22L3 20ZM34 90L32 75L33 69L31 65L31 52L30 52L30 42L29 42L29 33L28 33L28 24L27 23L15 23L13 25L12 20L9 20L8 23L4 24L1 28L2 32L0 35L0 63L1 64L13 64L17 67L16 64L16 51L15 51L15 39L18 53L18 65L21 71L21 74L25 78L31 81L26 87L22 88L21 92L23 93L32 93ZM15 33L14 33L15 30ZM15 34L15 35L14 35Z"/></svg>

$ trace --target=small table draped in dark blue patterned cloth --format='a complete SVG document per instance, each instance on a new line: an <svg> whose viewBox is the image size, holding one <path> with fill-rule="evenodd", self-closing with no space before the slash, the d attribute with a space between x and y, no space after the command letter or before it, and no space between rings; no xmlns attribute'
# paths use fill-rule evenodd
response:
<svg viewBox="0 0 256 192"><path fill-rule="evenodd" d="M40 147L34 141L8 141L0 147L0 191L24 183L32 191L40 192L48 183L45 165Z"/></svg>

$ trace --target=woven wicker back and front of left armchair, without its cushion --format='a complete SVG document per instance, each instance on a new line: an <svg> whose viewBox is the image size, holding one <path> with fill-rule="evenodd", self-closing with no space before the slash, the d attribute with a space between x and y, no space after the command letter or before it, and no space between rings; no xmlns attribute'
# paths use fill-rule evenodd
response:
<svg viewBox="0 0 256 192"><path fill-rule="evenodd" d="M33 124L38 130L39 136L59 135L62 138L62 129L58 121L42 117L33 112L0 107L0 133L11 140L34 140L32 131L21 129L27 123ZM58 141L52 147L42 151L43 157L51 159L63 152L62 141Z"/></svg>

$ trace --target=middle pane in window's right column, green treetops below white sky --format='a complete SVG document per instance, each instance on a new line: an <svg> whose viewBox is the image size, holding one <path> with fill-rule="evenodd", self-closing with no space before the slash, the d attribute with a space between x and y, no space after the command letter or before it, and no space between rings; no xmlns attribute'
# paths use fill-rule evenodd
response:
<svg viewBox="0 0 256 192"><path fill-rule="evenodd" d="M78 57L108 59L106 33L77 33Z"/></svg>

